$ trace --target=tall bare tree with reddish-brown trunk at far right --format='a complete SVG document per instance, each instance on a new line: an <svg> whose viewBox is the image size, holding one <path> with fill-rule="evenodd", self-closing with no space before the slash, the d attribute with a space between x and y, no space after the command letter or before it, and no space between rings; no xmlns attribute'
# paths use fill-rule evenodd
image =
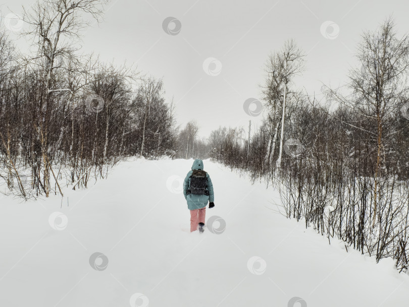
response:
<svg viewBox="0 0 409 307"><path fill-rule="evenodd" d="M363 116L369 123L368 133L376 135L373 227L377 216L380 217L377 210L382 195L380 172L382 163L385 165L382 154L391 148L390 143L385 144L385 139L389 139L387 131L393 133L389 128L399 112L402 98L407 96L409 90L409 36L397 37L394 28L393 19L388 18L377 30L362 35L357 52L362 67L350 71L350 97L342 97L338 91L330 90L337 101Z"/></svg>

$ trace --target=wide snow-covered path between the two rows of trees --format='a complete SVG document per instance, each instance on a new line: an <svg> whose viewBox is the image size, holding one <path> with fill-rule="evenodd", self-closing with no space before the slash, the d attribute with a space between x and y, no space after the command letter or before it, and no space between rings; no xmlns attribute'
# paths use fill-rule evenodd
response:
<svg viewBox="0 0 409 307"><path fill-rule="evenodd" d="M407 305L409 277L391 260L329 245L274 213L273 189L207 160L206 220L226 228L190 234L180 184L192 161L122 162L62 204L0 199L0 306Z"/></svg>

